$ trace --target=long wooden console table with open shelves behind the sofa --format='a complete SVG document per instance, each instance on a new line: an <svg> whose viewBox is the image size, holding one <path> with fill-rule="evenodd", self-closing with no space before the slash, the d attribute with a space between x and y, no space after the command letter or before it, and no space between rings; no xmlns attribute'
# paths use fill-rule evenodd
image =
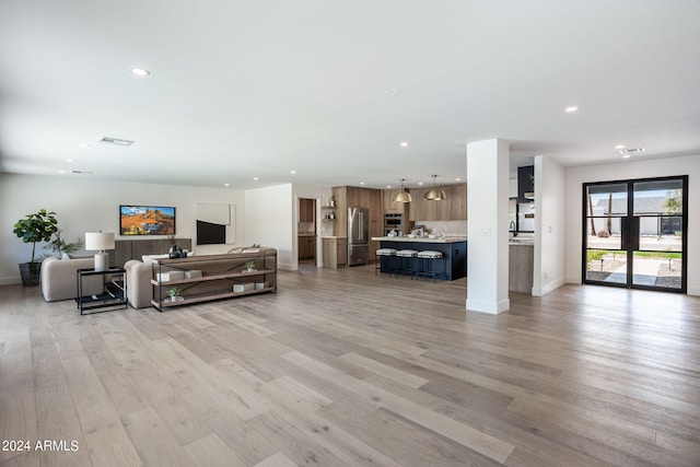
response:
<svg viewBox="0 0 700 467"><path fill-rule="evenodd" d="M253 261L253 270L246 262ZM160 312L164 308L234 299L265 292L277 292L277 249L248 248L242 253L224 255L163 258L151 265L153 299L151 304ZM168 296L173 288L180 295Z"/></svg>

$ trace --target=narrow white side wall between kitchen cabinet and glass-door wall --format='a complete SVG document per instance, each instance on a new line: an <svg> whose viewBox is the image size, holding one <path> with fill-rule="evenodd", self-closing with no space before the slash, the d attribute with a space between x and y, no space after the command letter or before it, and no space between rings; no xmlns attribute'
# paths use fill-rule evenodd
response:
<svg viewBox="0 0 700 467"><path fill-rule="evenodd" d="M565 282L564 168L549 157L535 157L535 267L533 295Z"/></svg>

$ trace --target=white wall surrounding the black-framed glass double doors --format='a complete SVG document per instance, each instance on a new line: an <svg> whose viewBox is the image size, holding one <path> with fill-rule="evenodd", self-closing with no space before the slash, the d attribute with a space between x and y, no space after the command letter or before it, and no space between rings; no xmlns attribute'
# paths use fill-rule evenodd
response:
<svg viewBox="0 0 700 467"><path fill-rule="evenodd" d="M567 179L567 282L581 283L582 185L588 182L688 175L688 294L700 295L700 155L619 164L568 167Z"/></svg>

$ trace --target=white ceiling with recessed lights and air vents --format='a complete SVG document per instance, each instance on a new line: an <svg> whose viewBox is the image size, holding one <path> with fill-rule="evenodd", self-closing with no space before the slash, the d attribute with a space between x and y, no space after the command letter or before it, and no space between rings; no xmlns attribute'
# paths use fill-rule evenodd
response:
<svg viewBox="0 0 700 467"><path fill-rule="evenodd" d="M699 86L698 0L0 0L8 173L410 187L492 138L518 165L700 155Z"/></svg>

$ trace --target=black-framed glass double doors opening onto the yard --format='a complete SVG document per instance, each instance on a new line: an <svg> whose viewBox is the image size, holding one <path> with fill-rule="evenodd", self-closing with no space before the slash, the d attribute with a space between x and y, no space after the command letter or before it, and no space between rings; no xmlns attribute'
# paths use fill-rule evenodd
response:
<svg viewBox="0 0 700 467"><path fill-rule="evenodd" d="M686 293L688 176L583 185L583 282Z"/></svg>

